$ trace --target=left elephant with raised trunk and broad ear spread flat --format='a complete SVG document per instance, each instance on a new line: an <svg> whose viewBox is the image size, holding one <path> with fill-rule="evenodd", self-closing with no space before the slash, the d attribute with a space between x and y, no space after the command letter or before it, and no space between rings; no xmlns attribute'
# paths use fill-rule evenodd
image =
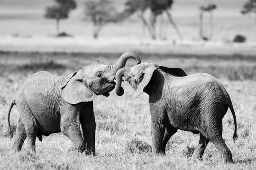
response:
<svg viewBox="0 0 256 170"><path fill-rule="evenodd" d="M46 71L31 75L9 108L11 137L9 117L14 104L20 114L12 149L20 151L27 138L28 149L35 151L36 137L42 141L42 136L62 132L73 142L70 150L95 155L96 124L92 101L97 95L110 95L116 85L115 74L125 67L128 59L141 63L136 54L126 52L114 65L95 63L64 76Z"/></svg>

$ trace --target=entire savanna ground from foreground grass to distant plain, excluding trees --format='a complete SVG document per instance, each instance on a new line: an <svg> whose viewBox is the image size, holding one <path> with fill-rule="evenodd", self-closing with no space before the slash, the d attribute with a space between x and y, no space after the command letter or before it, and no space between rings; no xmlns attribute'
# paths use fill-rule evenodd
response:
<svg viewBox="0 0 256 170"><path fill-rule="evenodd" d="M118 9L126 0L113 0ZM165 41L145 37L136 16L103 28L99 40L91 38L92 24L83 18L84 0L61 31L73 37L56 38L55 21L45 19L46 6L53 0L0 0L0 169L256 169L256 42L254 18L242 16L246 0L214 0L214 36L210 42L198 37L199 6L202 0L175 0L172 14L183 34L180 41L172 26L165 25ZM209 17L209 16L206 16ZM165 18L166 22L166 18ZM167 23L167 22L166 22ZM158 26L157 26L158 28ZM247 37L243 44L232 43L236 34ZM133 89L123 83L125 93L114 92L94 101L96 156L67 152L68 137L59 134L36 141L37 152L10 152L14 139L7 135L7 112L18 89L31 74L46 70L64 75L96 62L113 64L126 52L136 52L142 62L183 68L187 74L206 72L219 79L233 102L238 122L238 140L233 143L233 118L228 110L223 119L223 137L233 154L234 164L226 164L212 143L203 161L191 159L199 136L178 131L167 144L166 156L151 153L148 96L132 98ZM129 61L127 66L134 65ZM11 125L18 123L13 107Z"/></svg>

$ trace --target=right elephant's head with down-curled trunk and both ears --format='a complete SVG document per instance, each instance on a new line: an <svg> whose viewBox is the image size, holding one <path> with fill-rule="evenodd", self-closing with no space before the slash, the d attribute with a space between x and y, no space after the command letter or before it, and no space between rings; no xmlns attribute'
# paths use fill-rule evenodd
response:
<svg viewBox="0 0 256 170"><path fill-rule="evenodd" d="M159 69L173 76L187 76L181 68L166 68L163 66L158 67L156 64L149 62L138 64L137 66L131 68L121 68L116 74L117 85L115 87L115 91L117 95L121 96L124 93L124 90L121 87L121 80L124 76L125 80L129 82L134 90L136 90L134 96L138 97L146 89L146 86L151 80L155 69Z"/></svg>

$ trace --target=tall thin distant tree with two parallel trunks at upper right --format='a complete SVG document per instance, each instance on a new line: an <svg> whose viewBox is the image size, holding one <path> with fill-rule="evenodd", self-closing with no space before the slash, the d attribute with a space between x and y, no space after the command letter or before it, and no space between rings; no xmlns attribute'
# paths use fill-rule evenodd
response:
<svg viewBox="0 0 256 170"><path fill-rule="evenodd" d="M213 10L217 8L216 4L208 3L205 6L200 7L199 14L199 35L203 40L210 40L213 37ZM204 24L203 24L203 14L209 12L210 13L210 33L207 35L204 33Z"/></svg>

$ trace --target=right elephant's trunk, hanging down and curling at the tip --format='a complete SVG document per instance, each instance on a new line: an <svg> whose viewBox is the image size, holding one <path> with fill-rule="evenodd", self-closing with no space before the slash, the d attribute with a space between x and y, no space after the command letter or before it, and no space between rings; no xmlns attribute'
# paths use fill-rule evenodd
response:
<svg viewBox="0 0 256 170"><path fill-rule="evenodd" d="M116 94L118 96L121 96L124 94L124 89L123 87L121 87L121 84L122 84L122 77L125 76L127 77L128 75L128 72L129 72L130 68L128 67L125 67L125 68L121 68L118 70L117 74L116 74L116 80L117 80L117 84L115 86L115 91L116 91Z"/></svg>

